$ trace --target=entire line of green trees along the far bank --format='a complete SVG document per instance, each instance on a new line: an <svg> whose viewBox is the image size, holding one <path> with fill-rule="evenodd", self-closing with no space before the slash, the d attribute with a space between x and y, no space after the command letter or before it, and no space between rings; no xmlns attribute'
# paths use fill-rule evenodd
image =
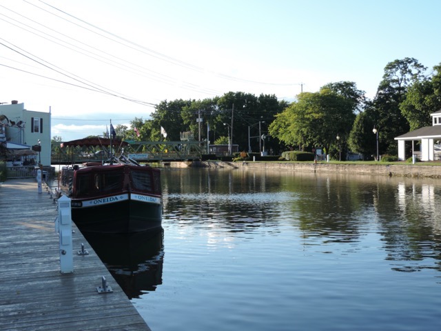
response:
<svg viewBox="0 0 441 331"><path fill-rule="evenodd" d="M404 58L387 63L373 99L352 81L302 92L292 103L274 94L227 92L203 100L161 101L150 119L135 118L130 128L119 125L115 130L121 139L160 141L165 139L162 127L170 141L192 132L196 140L226 144L232 139L239 150L250 146L253 152L259 151L265 134L265 149L274 154L320 146L331 157L350 150L369 159L377 147L373 128L380 154L396 155L394 138L431 126L430 114L440 106L441 65L428 70L416 59Z"/></svg>

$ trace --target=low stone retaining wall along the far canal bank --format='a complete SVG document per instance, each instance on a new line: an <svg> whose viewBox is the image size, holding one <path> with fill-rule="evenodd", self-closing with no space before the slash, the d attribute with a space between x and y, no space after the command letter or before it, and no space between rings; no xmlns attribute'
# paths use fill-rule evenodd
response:
<svg viewBox="0 0 441 331"><path fill-rule="evenodd" d="M280 170L292 172L332 172L342 174L368 174L397 177L421 177L441 179L440 165L398 164L354 164L354 163L326 163L326 162L224 162L224 161L194 161L171 162L171 168L203 167L203 168L230 168L244 170Z"/></svg>

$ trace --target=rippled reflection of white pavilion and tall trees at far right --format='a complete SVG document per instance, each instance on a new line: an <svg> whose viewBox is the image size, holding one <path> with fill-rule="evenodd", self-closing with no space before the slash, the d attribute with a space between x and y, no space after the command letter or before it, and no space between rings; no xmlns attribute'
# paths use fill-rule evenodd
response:
<svg viewBox="0 0 441 331"><path fill-rule="evenodd" d="M390 203L378 202L382 241L387 260L395 261L393 270L440 271L441 212L436 208L440 205L439 185L398 183L393 193L387 197ZM387 212L390 209L392 212Z"/></svg>

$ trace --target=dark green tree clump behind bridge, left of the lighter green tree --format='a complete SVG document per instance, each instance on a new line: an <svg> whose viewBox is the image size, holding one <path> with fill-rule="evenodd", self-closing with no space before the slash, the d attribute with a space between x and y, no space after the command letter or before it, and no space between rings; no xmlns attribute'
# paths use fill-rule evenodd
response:
<svg viewBox="0 0 441 331"><path fill-rule="evenodd" d="M244 92L227 92L222 97L212 99L161 101L152 113L152 119L147 121L136 119L131 122L131 127L134 129L136 124L140 132L138 139L141 140L162 139L161 126L167 131L167 140L179 140L180 132L185 131L191 131L198 139L198 118L201 114L202 140L208 138L213 142L216 137L227 136L232 127L233 143L238 144L240 149L247 149L248 127L260 121L261 132L266 133L267 125L286 106L287 103L278 101L274 94L260 94L256 97L254 94ZM209 137L207 137L207 125L209 125ZM255 136L256 132L253 135ZM127 130L126 137L136 140L134 130ZM267 142L265 146L270 147L271 144L276 143L278 142L275 139L271 139L271 142ZM254 141L254 144L255 147L258 146L258 141Z"/></svg>

